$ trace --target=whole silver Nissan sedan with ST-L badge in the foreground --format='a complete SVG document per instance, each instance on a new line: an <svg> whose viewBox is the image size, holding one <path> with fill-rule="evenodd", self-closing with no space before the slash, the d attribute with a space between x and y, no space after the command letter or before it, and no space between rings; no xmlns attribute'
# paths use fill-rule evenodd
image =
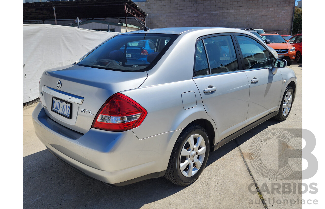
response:
<svg viewBox="0 0 325 209"><path fill-rule="evenodd" d="M128 48L141 41L152 50L136 63ZM210 152L288 117L297 79L286 66L240 29L127 32L46 70L33 124L54 156L105 184L165 176L185 186Z"/></svg>

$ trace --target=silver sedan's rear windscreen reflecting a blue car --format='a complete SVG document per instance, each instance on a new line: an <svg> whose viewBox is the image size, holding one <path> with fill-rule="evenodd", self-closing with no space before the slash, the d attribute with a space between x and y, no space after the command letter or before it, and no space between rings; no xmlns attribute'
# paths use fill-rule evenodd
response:
<svg viewBox="0 0 325 209"><path fill-rule="evenodd" d="M97 47L77 65L115 71L147 71L177 37L153 33L118 35Z"/></svg>

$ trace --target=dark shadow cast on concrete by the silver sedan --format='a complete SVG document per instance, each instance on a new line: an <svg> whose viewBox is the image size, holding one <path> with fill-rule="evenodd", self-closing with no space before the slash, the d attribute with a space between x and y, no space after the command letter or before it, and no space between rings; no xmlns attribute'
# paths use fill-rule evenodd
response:
<svg viewBox="0 0 325 209"><path fill-rule="evenodd" d="M267 121L237 138L239 145L265 130ZM210 153L206 166L231 150L234 141ZM134 183L124 187L109 187L89 179L67 167L48 150L23 157L23 208L140 208L161 200L186 187L180 187L164 177Z"/></svg>

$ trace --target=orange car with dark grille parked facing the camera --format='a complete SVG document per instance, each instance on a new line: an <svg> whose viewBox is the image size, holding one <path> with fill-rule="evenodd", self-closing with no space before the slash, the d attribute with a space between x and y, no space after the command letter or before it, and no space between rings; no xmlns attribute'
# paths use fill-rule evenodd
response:
<svg viewBox="0 0 325 209"><path fill-rule="evenodd" d="M276 33L267 33L261 34L261 36L264 40L270 40L268 46L275 49L275 51L278 53L279 58L287 60L288 65L292 63L296 56L295 48L286 40L284 40L281 35Z"/></svg>

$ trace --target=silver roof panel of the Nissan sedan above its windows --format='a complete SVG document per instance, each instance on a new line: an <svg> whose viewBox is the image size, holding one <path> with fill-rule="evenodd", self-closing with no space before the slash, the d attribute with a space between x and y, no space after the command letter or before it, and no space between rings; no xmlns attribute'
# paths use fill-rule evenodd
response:
<svg viewBox="0 0 325 209"><path fill-rule="evenodd" d="M136 30L121 34L135 34L135 33L162 33L162 34L176 34L180 35L184 32L194 32L199 30L206 30L207 32L211 30L212 33L243 33L244 30L234 29L234 28L214 28L214 27L175 27L175 28L157 28L157 29L150 29L150 30ZM247 32L248 33L248 32ZM119 34L120 35L120 34Z"/></svg>

